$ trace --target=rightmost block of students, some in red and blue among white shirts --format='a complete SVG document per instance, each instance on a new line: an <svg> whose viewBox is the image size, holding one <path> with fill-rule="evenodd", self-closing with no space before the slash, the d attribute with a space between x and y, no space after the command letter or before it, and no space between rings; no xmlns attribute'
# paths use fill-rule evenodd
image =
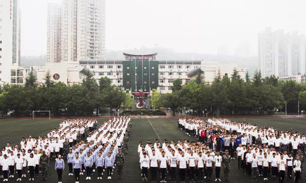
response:
<svg viewBox="0 0 306 183"><path fill-rule="evenodd" d="M276 130L273 127L237 123L225 118L180 118L179 128L197 143L206 145L211 151L229 151L231 159L237 158L238 168L257 180L262 176L268 180L278 177L284 182L285 175L298 182L301 178L305 151L305 135L292 130Z"/></svg>

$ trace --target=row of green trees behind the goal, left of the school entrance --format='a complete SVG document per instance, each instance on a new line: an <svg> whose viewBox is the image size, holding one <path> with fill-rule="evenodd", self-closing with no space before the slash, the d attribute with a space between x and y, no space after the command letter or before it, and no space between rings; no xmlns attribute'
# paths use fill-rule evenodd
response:
<svg viewBox="0 0 306 183"><path fill-rule="evenodd" d="M89 70L82 72L83 82L73 85L54 82L49 72L44 83L39 85L34 73L30 72L24 85L1 86L0 109L13 110L16 115L29 115L33 110L50 110L53 115L92 115L97 110L102 113L131 107L130 95L112 85L109 78L102 77L97 83Z"/></svg>

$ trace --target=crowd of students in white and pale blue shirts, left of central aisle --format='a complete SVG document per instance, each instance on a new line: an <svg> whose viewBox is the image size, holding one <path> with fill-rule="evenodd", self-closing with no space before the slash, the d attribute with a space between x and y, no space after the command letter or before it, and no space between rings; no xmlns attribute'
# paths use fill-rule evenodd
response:
<svg viewBox="0 0 306 183"><path fill-rule="evenodd" d="M79 182L80 175L85 170L86 179L90 179L95 169L98 171L98 179L101 179L105 168L110 179L115 157L117 153L121 153L120 146L129 122L128 117L114 117L104 121L97 129L97 121L94 119L66 119L58 129L50 130L44 137L22 138L20 144L13 147L7 143L0 151L0 177L4 178L3 181L8 181L17 172L17 181L21 181L29 173L29 180L34 180L34 176L38 176L40 171L40 156L45 154L50 159L56 158L55 169L58 182L61 183L65 167L62 156L66 143L70 150L65 158L69 175L74 173L75 182Z"/></svg>

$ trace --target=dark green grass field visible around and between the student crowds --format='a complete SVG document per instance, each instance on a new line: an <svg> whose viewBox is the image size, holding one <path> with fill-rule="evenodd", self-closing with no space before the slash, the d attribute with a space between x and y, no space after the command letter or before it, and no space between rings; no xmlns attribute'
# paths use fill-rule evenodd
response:
<svg viewBox="0 0 306 183"><path fill-rule="evenodd" d="M33 136L45 135L47 131L52 128L57 128L60 121L63 119L0 119L0 146L4 146L6 142L19 143L22 137L28 137L30 134ZM242 118L233 118L232 120L241 121ZM293 128L293 130L306 133L306 119L305 118L245 118L247 122L263 126L269 124L276 127L278 130L286 130ZM98 119L98 125L104 119ZM133 118L131 139L129 146L129 154L125 155L125 166L123 171L123 179L117 179L116 172L113 175L113 179L107 179L106 175L103 176L103 180L96 180L96 172L92 176L91 180L85 180L85 176L81 175L81 182L141 182L139 158L137 154L137 146L140 140L146 142L147 140L155 141L159 139L163 141L167 139L171 140L195 140L193 137L188 137L185 133L177 128L176 118ZM213 175L214 177L214 175ZM178 176L177 176L178 178ZM16 178L9 179L10 182L15 181ZM223 180L223 172L221 172L221 179ZM232 182L247 182L251 179L247 177L242 171L237 170L236 160L232 161L232 169L230 172L230 179ZM28 181L28 179L26 179ZM177 179L178 180L178 179ZM23 178L23 181L25 179ZM63 175L64 182L74 182L72 176L67 176L67 166ZM264 182L263 180L259 180ZM269 182L272 180L269 180ZM292 180L290 180L291 182ZM35 182L40 182L40 177L35 179ZM54 161L52 161L51 168L49 170L49 181L57 182L57 174L54 170ZM276 182L273 180L272 182ZM289 180L285 180L289 182Z"/></svg>

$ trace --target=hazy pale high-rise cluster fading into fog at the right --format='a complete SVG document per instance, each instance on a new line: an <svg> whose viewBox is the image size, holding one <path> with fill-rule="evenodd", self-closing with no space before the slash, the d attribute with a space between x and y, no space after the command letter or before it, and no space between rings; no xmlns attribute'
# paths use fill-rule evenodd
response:
<svg viewBox="0 0 306 183"><path fill-rule="evenodd" d="M258 36L259 65L264 77L305 73L305 39L302 35L272 32L268 27Z"/></svg>

